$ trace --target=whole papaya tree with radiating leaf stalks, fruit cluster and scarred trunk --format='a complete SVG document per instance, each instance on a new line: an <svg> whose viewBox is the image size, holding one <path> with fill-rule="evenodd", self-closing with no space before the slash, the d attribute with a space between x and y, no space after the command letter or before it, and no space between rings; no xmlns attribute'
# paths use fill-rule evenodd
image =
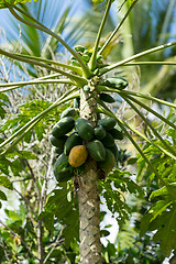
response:
<svg viewBox="0 0 176 264"><path fill-rule="evenodd" d="M51 57L42 57L29 55L26 53L14 53L0 48L0 54L15 62L26 63L35 67L45 69L44 76L35 76L26 81L7 82L1 86L1 118L4 117L4 106L8 105L8 92L28 85L65 85L66 91L59 96L55 102L48 102L40 106L40 102L26 103L21 108L22 122L6 122L1 132L1 163L6 164L6 168L10 166L11 158L18 156L20 163L28 163L32 155L24 152L21 146L31 131L43 129L48 120L54 121L51 128L50 141L55 147L55 157L53 164L53 173L58 183L58 188L48 195L48 199L42 200L37 208L37 227L36 233L38 250L37 262L47 263L50 254L43 252L42 233L43 227L53 235L55 221L59 221L64 231L65 245L70 248L70 242L79 241L80 263L102 263L101 243L100 243L100 196L105 197L108 208L114 213L118 212L118 222L120 226L124 223L130 213L130 208L122 197L122 193L141 193L138 186L130 177L129 172L120 170L119 163L123 163L124 155L121 155L117 141L121 141L123 136L130 140L136 151L140 153L139 164L141 168L147 167L150 179L158 184L158 189L151 194L151 198L164 196L163 200L156 200L155 205L150 208L142 220L141 233L148 230L157 230L156 240L161 241L161 249L164 255L168 256L175 250L175 120L174 111L176 105L164 101L160 98L152 97L146 94L140 94L131 89L131 79L116 74L116 69L123 66L134 67L140 65L140 58L172 48L176 42L169 42L160 46L140 52L122 61L113 64L106 61L103 54L106 50L113 43L123 22L128 19L132 9L140 0L127 0L120 6L120 11L128 4L128 10L119 22L117 28L109 34L103 43L101 35L107 22L112 3L116 1L94 1L96 4L103 3L105 12L99 25L97 37L94 46L86 47L77 45L74 48L65 42L65 40L56 32L50 30L38 20L25 12L18 3L25 3L26 0L18 1L0 1L0 8L8 8L11 14L21 23L34 28L48 36L55 38L69 53L70 59L68 64L53 59ZM118 44L117 44L118 45ZM51 54L53 55L53 54ZM146 64L164 65L166 62L146 62ZM175 61L167 63L175 65ZM51 74L53 73L53 74ZM6 94L7 92L7 94ZM110 103L114 103L114 95L124 100L130 109L133 110L150 129L148 133L139 131L131 122L122 120L111 108ZM140 99L139 99L140 98ZM165 118L160 112L150 108L146 101L157 102L173 109L170 117ZM65 103L70 103L69 108L64 109ZM29 107L38 107L38 113L31 119L28 116ZM113 106L113 105L112 105ZM32 108L31 108L32 109ZM44 109L40 112L40 110ZM59 117L54 116L59 111ZM167 134L161 135L156 127L153 125L143 111L152 113L162 121L161 125L167 127ZM31 111L32 112L32 111ZM35 113L35 111L34 111ZM20 120L20 121L21 121ZM13 120L14 121L14 120ZM19 127L16 127L19 124ZM12 133L4 136L6 129L10 128ZM37 128L37 129L36 129ZM145 144L138 144L134 134L142 139ZM26 140L28 139L28 140ZM30 141L32 136L30 138ZM152 154L151 154L152 153ZM155 158L154 158L155 157ZM162 164L162 165L161 165ZM16 164L13 164L13 170ZM18 164L19 166L19 164ZM50 167L52 162L50 162ZM11 183L6 177L9 170L1 166L1 185L10 186ZM31 169L31 167L29 166ZM11 166L12 169L12 166ZM35 186L38 189L40 180L36 179ZM3 199L3 193L1 199ZM41 196L38 195L38 198ZM41 206L42 205L42 206ZM36 207L38 205L36 204ZM79 220L79 238L77 235L77 227ZM167 223L169 223L167 226ZM168 238L172 240L168 242ZM25 237L24 237L25 238ZM61 238L61 237L59 237ZM56 239L57 240L57 239ZM24 241L25 242L25 241ZM72 262L72 261L70 261ZM76 257L74 258L76 262Z"/></svg>

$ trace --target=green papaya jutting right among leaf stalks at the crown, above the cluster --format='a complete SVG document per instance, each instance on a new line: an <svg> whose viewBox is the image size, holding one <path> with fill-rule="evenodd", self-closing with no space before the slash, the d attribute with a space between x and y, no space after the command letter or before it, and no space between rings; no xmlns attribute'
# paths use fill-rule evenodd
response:
<svg viewBox="0 0 176 264"><path fill-rule="evenodd" d="M101 85L122 90L129 85L129 82L122 77L110 77Z"/></svg>

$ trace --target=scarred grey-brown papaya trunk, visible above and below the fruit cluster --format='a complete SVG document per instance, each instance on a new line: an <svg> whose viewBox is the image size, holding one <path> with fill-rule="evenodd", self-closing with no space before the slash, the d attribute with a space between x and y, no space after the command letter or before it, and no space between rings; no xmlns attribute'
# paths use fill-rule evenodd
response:
<svg viewBox="0 0 176 264"><path fill-rule="evenodd" d="M92 87L94 89L94 87ZM81 91L80 117L97 122L96 95ZM97 163L88 158L86 172L78 178L80 263L101 264L100 198L98 194Z"/></svg>

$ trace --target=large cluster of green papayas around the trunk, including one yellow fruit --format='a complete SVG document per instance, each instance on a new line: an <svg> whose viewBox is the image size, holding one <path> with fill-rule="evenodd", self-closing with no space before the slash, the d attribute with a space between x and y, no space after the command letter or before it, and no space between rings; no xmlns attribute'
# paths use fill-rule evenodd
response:
<svg viewBox="0 0 176 264"><path fill-rule="evenodd" d="M74 176L75 168L85 164L88 156L94 158L105 174L112 170L118 158L114 140L122 140L123 134L113 118L98 120L97 127L77 118L77 110L66 109L54 125L51 143L58 157L54 164L57 182L67 182Z"/></svg>

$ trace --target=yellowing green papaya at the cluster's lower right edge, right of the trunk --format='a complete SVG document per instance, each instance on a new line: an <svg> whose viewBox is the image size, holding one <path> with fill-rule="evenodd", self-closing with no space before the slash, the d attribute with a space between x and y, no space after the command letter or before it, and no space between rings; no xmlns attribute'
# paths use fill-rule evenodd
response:
<svg viewBox="0 0 176 264"><path fill-rule="evenodd" d="M105 173L110 173L112 170L112 168L116 166L114 155L109 148L106 148L106 160L103 162L99 162L98 166Z"/></svg>

